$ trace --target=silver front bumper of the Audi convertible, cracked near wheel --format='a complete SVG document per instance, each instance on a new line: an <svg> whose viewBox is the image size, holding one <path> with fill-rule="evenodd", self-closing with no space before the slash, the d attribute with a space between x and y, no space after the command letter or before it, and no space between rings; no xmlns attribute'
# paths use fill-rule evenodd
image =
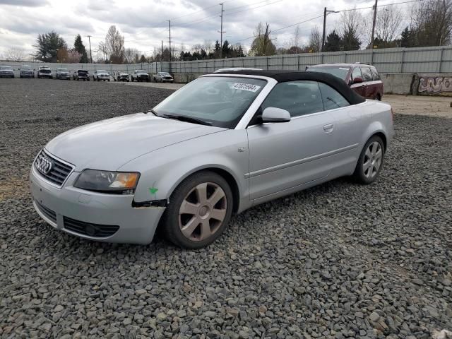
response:
<svg viewBox="0 0 452 339"><path fill-rule="evenodd" d="M30 191L33 206L42 219L57 230L99 242L152 242L160 217L165 211L164 207L133 208L131 195L97 194L77 189L73 187L73 182L78 174L69 174L66 183L59 189L42 179L32 166ZM80 232L74 232L74 222ZM95 234L93 227L97 229L103 226L110 231L114 226L119 229L107 237L89 235Z"/></svg>

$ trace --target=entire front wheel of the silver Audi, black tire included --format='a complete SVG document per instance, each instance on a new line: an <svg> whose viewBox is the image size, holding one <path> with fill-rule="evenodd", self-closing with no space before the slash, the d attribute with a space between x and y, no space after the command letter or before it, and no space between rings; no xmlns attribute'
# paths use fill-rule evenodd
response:
<svg viewBox="0 0 452 339"><path fill-rule="evenodd" d="M205 195L202 194L203 188ZM198 198L198 192L204 198ZM218 201L212 206L210 199L213 196L217 196ZM170 198L172 203L167 206L162 217L162 233L170 242L186 249L208 246L225 231L232 215L232 199L230 186L220 175L210 171L193 174L174 189ZM184 206L187 206L186 211L189 213L181 213ZM210 217L213 210L222 220ZM193 227L187 230L190 224Z"/></svg>

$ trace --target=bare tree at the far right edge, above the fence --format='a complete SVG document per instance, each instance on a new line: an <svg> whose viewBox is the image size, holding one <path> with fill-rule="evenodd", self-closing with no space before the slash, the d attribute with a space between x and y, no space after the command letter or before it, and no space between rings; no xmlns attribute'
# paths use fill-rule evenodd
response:
<svg viewBox="0 0 452 339"><path fill-rule="evenodd" d="M451 42L452 0L426 0L412 5L417 45L441 46Z"/></svg>

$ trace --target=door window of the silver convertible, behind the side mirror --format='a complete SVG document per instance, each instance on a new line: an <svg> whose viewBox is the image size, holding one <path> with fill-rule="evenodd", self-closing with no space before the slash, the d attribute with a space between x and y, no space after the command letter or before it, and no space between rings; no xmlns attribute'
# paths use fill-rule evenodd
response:
<svg viewBox="0 0 452 339"><path fill-rule="evenodd" d="M262 103L261 109L286 109L291 117L323 111L319 85L315 81L287 81L278 83Z"/></svg>

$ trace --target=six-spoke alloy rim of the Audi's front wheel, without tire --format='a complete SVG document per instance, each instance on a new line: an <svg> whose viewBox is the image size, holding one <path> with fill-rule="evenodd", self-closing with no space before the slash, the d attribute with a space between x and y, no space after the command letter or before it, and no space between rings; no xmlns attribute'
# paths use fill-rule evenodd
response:
<svg viewBox="0 0 452 339"><path fill-rule="evenodd" d="M195 186L179 208L179 228L186 239L200 242L220 229L227 212L225 191L213 182Z"/></svg>

